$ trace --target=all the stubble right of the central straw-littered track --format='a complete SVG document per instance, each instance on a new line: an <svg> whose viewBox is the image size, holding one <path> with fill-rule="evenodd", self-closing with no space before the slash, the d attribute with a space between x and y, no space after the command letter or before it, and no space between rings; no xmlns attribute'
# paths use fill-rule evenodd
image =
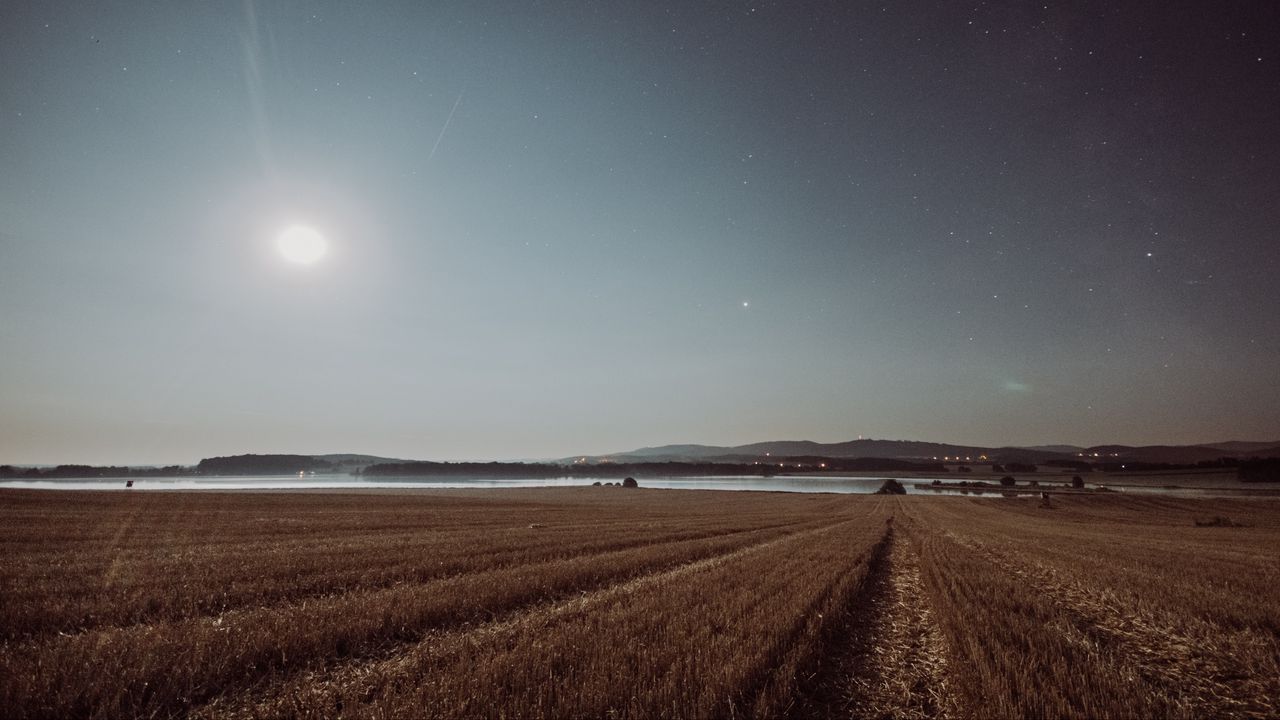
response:
<svg viewBox="0 0 1280 720"><path fill-rule="evenodd" d="M1140 506L1114 523L1069 502L1038 514L1025 501L909 509L927 602L950 665L965 669L952 679L968 714L1280 714L1276 635L1257 621L1276 611L1274 587L1238 612L1216 584L1228 544L1247 553L1260 544L1197 537L1190 523L1169 524L1176 506L1164 515ZM1135 532L1140 523L1149 527ZM1265 578L1268 564L1236 565L1236 582ZM1217 611L1206 605L1215 598Z"/></svg>

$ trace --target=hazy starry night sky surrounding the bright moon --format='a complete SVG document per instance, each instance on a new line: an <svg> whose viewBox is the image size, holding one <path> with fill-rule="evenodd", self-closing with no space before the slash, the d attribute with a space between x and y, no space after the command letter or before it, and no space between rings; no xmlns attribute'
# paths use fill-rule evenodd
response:
<svg viewBox="0 0 1280 720"><path fill-rule="evenodd" d="M0 461L1274 439L1277 233L1274 3L10 3Z"/></svg>

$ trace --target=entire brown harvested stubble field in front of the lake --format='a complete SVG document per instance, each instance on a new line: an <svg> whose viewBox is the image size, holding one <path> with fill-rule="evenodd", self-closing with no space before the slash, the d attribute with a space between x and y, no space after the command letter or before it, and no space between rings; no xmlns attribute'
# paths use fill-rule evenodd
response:
<svg viewBox="0 0 1280 720"><path fill-rule="evenodd" d="M1267 500L6 491L0 546L12 717L1280 714Z"/></svg>

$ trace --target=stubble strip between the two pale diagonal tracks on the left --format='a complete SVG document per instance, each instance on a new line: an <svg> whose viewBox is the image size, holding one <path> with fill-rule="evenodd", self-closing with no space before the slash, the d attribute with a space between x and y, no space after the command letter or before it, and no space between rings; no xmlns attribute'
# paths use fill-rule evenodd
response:
<svg viewBox="0 0 1280 720"><path fill-rule="evenodd" d="M0 702L44 705L35 716L109 710L174 712L261 675L411 642L429 629L485 621L548 598L594 589L787 534L768 528L724 537L479 571L424 584L343 593L211 619L137 625L14 643L0 651ZM36 673L36 667L61 673ZM102 683L102 667L114 667ZM72 688L93 687L96 693Z"/></svg>

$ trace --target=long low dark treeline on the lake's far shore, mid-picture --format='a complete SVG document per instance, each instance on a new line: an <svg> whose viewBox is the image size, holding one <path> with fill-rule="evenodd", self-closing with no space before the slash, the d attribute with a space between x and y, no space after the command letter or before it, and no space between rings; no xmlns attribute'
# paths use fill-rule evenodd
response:
<svg viewBox="0 0 1280 720"><path fill-rule="evenodd" d="M934 462L858 459L787 457L776 462L381 462L365 468L365 475L379 477L471 477L471 478L626 478L626 477L698 477L698 475L776 475L818 470L840 471L931 471L945 473Z"/></svg>

